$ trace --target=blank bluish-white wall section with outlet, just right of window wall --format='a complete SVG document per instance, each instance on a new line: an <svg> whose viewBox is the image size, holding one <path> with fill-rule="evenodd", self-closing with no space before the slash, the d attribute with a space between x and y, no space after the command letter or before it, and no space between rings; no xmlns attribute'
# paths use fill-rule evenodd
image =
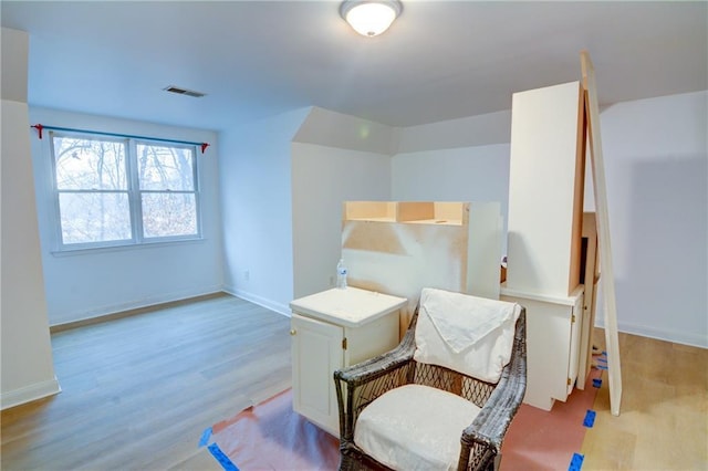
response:
<svg viewBox="0 0 708 471"><path fill-rule="evenodd" d="M291 142L309 111L219 133L225 287L283 314L293 299Z"/></svg>

